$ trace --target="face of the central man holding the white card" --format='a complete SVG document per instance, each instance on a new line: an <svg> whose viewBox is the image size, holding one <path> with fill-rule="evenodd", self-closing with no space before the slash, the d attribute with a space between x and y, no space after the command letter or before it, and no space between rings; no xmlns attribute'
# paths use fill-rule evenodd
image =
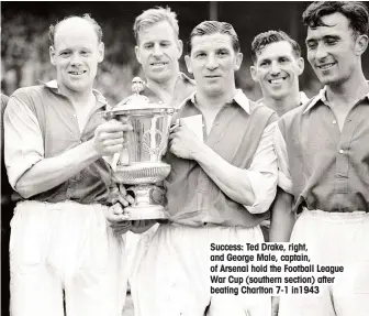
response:
<svg viewBox="0 0 369 316"><path fill-rule="evenodd" d="M191 46L191 54L185 59L198 90L215 96L235 89L235 72L239 69L243 55L234 51L231 35L194 36Z"/></svg>

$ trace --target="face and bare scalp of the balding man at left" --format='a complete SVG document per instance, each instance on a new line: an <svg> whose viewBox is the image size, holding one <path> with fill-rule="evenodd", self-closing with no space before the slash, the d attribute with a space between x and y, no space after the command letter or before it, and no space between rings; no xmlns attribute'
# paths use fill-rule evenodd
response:
<svg viewBox="0 0 369 316"><path fill-rule="evenodd" d="M103 59L103 43L92 25L82 19L70 19L58 25L51 61L56 66L60 90L86 92L92 89L98 64Z"/></svg>

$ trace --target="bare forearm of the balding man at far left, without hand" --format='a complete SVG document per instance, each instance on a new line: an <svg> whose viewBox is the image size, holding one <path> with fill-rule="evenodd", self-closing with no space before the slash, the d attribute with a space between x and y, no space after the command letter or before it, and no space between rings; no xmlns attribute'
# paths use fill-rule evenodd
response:
<svg viewBox="0 0 369 316"><path fill-rule="evenodd" d="M90 140L58 156L41 160L22 175L15 189L25 198L46 192L66 182L99 157Z"/></svg>

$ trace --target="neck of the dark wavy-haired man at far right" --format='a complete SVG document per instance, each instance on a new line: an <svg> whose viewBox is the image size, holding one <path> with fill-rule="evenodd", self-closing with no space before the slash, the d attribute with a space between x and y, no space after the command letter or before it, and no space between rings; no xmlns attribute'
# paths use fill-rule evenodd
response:
<svg viewBox="0 0 369 316"><path fill-rule="evenodd" d="M327 85L326 97L329 101L339 103L353 103L369 92L369 85L360 70L354 74L348 80L337 84Z"/></svg>

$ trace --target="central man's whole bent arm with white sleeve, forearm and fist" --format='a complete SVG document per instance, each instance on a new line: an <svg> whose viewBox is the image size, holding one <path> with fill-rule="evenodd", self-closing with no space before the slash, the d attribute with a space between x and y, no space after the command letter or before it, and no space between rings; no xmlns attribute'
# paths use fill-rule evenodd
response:
<svg viewBox="0 0 369 316"><path fill-rule="evenodd" d="M248 170L238 168L223 160L186 126L177 127L170 133L170 151L177 156L195 160L224 194L245 205L250 213L264 213L276 195L275 128L276 123L265 129Z"/></svg>

